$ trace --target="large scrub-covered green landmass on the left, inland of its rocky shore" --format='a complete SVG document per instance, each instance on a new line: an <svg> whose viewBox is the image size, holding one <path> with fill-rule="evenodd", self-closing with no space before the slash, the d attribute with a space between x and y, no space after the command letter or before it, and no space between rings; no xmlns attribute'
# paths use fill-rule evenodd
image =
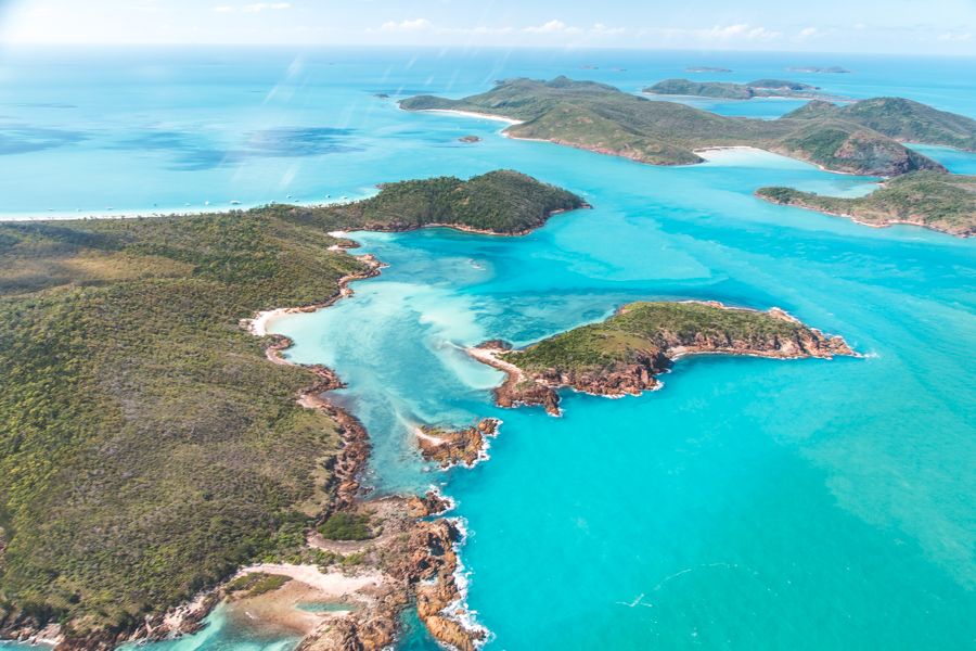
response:
<svg viewBox="0 0 976 651"><path fill-rule="evenodd" d="M582 205L497 171L335 206L0 224L0 635L57 624L59 649L112 649L333 522L355 423L296 398L335 381L241 327L376 272L330 232L514 234Z"/></svg>

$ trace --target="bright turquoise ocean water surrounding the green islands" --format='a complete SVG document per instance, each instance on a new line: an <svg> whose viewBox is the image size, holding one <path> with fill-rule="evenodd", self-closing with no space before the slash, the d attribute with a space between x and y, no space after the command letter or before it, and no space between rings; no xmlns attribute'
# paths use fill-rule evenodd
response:
<svg viewBox="0 0 976 651"><path fill-rule="evenodd" d="M637 92L686 66L902 95L976 117L974 60L580 50L7 50L0 216L322 203L375 184L514 168L594 207L523 238L354 233L389 265L355 296L273 322L288 357L348 382L374 495L439 487L467 532L467 603L489 649L966 649L976 646L976 245L773 206L877 179L774 154L652 167L399 111L415 93L567 75ZM848 75L787 73L844 65ZM586 66L586 68L583 68ZM388 94L390 98L377 98ZM691 101L691 100L689 100ZM792 100L704 102L772 118ZM463 144L458 138L483 141ZM976 154L919 148L952 171ZM209 206L205 202L209 202ZM111 210L108 208L112 208ZM463 347L524 345L639 298L779 306L859 359L678 362L659 392L501 410ZM268 306L279 307L279 306ZM421 462L416 424L504 423L473 470ZM410 613L401 649L436 646ZM218 610L153 651L287 650Z"/></svg>

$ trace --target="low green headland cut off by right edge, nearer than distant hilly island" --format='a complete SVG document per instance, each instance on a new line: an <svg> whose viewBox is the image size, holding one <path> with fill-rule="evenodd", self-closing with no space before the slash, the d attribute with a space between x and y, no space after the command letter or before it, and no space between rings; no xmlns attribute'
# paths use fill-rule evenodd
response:
<svg viewBox="0 0 976 651"><path fill-rule="evenodd" d="M976 234L976 176L915 171L856 199L792 188L760 188L756 193L774 203L849 215L877 226L906 221L956 235Z"/></svg>

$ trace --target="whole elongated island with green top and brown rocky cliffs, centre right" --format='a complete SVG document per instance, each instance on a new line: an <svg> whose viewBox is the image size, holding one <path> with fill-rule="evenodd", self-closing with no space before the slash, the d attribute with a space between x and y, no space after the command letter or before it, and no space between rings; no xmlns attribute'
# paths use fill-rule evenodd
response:
<svg viewBox="0 0 976 651"><path fill-rule="evenodd" d="M558 416L557 390L599 396L638 395L688 355L748 355L776 359L855 355L781 309L757 311L714 302L639 302L608 319L575 328L526 348L486 342L468 353L505 373L495 392L501 407L540 405Z"/></svg>

